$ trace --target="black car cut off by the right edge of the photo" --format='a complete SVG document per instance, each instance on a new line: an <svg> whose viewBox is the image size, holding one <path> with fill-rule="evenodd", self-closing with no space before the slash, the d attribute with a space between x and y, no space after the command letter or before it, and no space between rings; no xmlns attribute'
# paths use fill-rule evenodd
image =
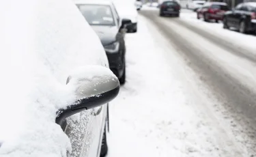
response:
<svg viewBox="0 0 256 157"><path fill-rule="evenodd" d="M223 27L234 27L241 33L256 31L256 3L240 3L232 11L226 12L223 19Z"/></svg>

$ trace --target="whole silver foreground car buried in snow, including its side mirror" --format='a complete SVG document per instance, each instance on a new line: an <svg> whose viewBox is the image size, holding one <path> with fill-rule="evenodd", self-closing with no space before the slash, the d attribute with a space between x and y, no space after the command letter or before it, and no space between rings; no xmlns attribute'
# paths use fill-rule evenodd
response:
<svg viewBox="0 0 256 157"><path fill-rule="evenodd" d="M119 81L98 35L70 0L0 8L0 156L106 154Z"/></svg>

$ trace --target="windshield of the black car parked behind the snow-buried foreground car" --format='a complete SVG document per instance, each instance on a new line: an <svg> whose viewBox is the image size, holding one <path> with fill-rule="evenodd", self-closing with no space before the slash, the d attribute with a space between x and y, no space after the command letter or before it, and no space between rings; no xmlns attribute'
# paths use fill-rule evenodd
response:
<svg viewBox="0 0 256 157"><path fill-rule="evenodd" d="M109 5L77 5L89 25L115 25Z"/></svg>

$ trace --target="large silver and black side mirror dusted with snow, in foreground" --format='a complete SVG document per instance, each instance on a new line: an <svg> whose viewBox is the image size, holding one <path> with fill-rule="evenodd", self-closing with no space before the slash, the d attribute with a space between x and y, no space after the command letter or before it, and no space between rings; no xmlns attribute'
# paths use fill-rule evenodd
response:
<svg viewBox="0 0 256 157"><path fill-rule="evenodd" d="M60 126L66 117L110 102L117 96L120 87L115 74L103 66L79 68L68 77L67 85L74 87L76 101L57 111L55 122Z"/></svg>

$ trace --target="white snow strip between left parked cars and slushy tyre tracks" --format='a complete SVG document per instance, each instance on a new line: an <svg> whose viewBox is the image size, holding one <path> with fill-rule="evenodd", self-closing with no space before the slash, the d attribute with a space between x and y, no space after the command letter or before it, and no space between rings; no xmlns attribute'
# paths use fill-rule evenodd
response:
<svg viewBox="0 0 256 157"><path fill-rule="evenodd" d="M127 83L110 105L108 156L248 155L159 31L141 16L138 25L126 35Z"/></svg>

